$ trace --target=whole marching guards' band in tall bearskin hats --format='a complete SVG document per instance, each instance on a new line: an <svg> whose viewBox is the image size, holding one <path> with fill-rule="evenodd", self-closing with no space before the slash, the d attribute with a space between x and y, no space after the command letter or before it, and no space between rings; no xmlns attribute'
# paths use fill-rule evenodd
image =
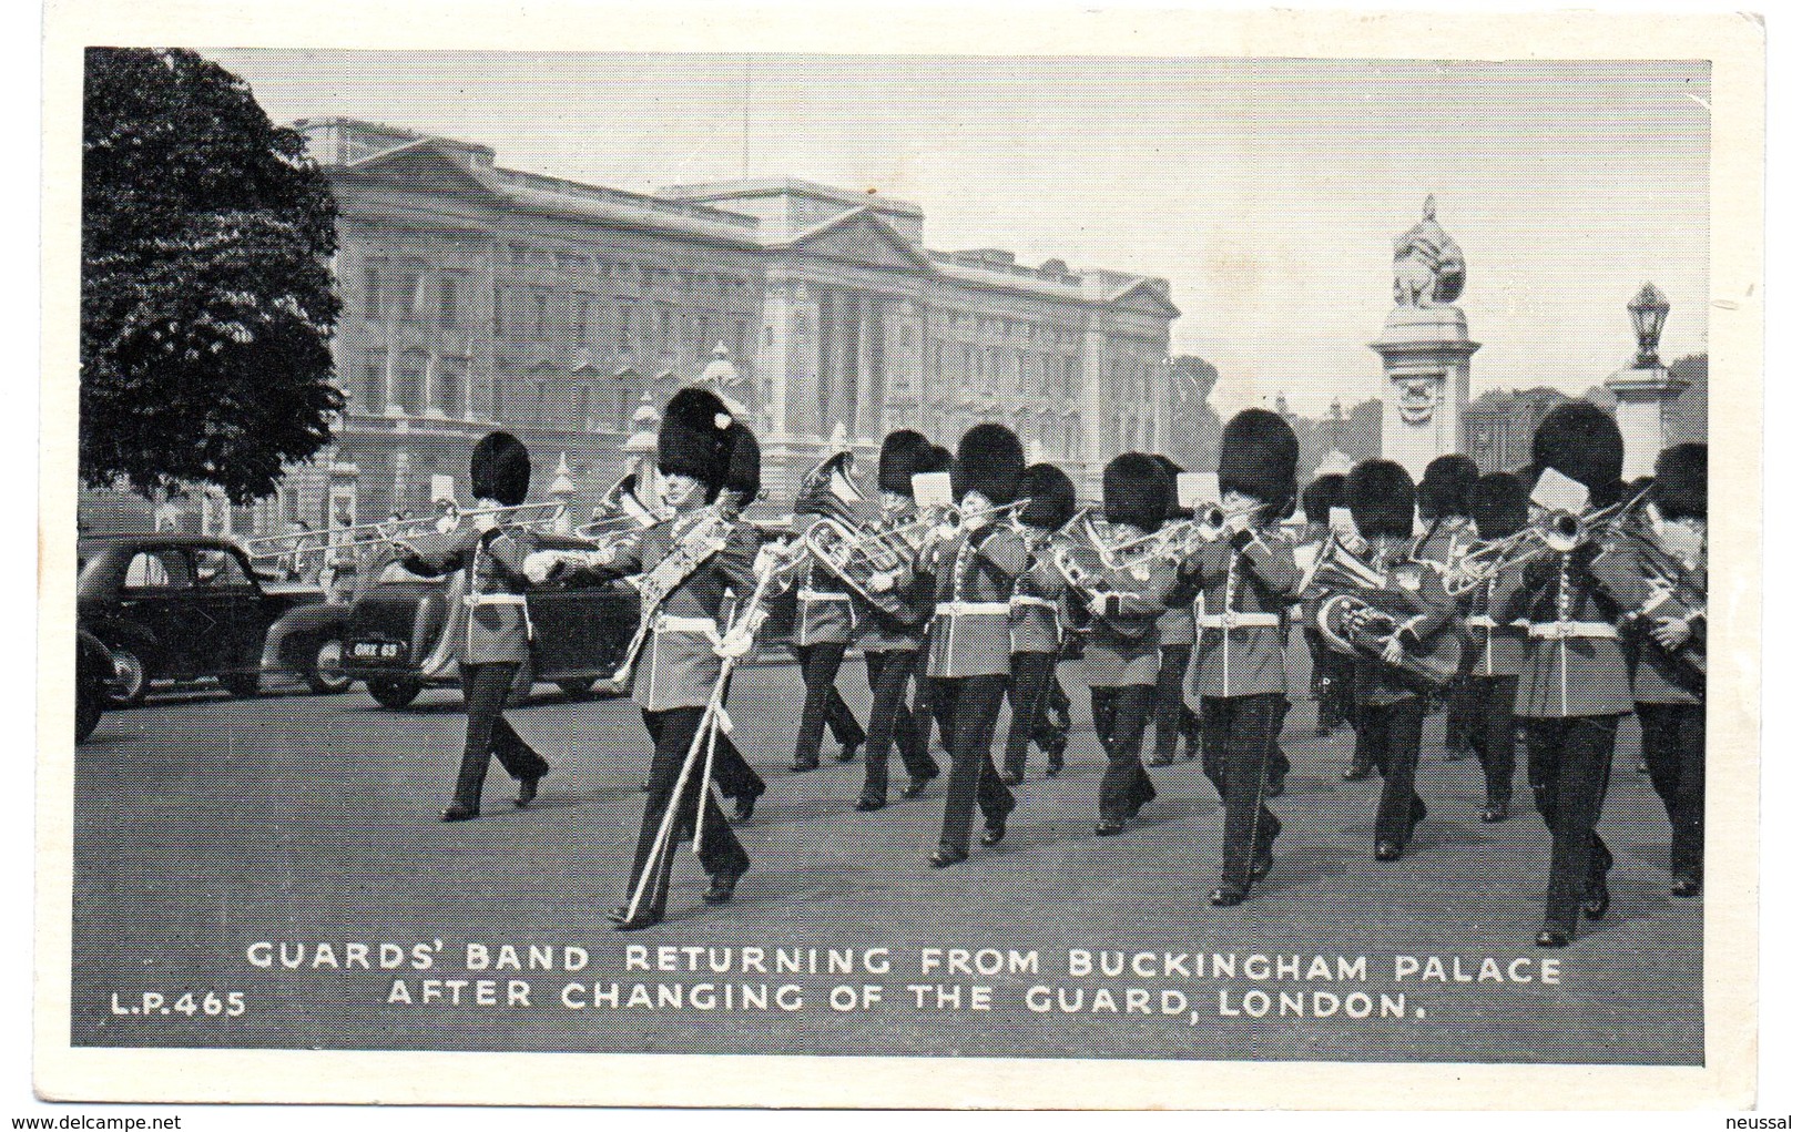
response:
<svg viewBox="0 0 1802 1132"><path fill-rule="evenodd" d="M899 752L914 799L941 775L932 725L950 755L935 869L1007 836L1033 744L1045 773L1063 766L1069 716L1058 662L1081 642L1096 734L1106 759L1097 836L1115 836L1157 797L1150 766L1177 739L1224 804L1220 880L1207 901L1243 903L1279 865L1279 746L1288 712L1290 631L1299 622L1317 701L1315 735L1350 723L1346 781L1382 777L1375 860L1406 856L1429 808L1415 790L1422 725L1449 703L1447 748L1469 746L1485 782L1483 822L1503 822L1524 735L1534 804L1552 833L1546 914L1535 943L1566 946L1579 914L1609 910L1609 847L1597 820L1615 734L1636 714L1652 788L1670 818L1670 892L1703 878L1706 683L1706 447L1665 451L1643 490L1622 481L1622 438L1589 402L1555 407L1519 472L1479 476L1463 456L1433 461L1416 490L1400 465L1366 460L1297 492L1299 445L1263 409L1227 422L1216 472L1123 452L1099 505L1079 505L1060 469L1025 467L1018 436L971 427L955 458L912 429L883 440L874 501L849 479L849 452L815 469L787 537L744 519L760 488L757 438L714 393L676 393L658 434L656 499L633 494L625 530L591 539L514 526L530 460L505 433L472 458L481 507L472 532L402 543L422 573L467 571L460 660L467 743L445 820L481 813L488 757L519 779L519 806L550 764L501 708L530 660L524 593L533 584L627 577L640 629L618 685L631 687L656 753L622 930L663 919L674 849L694 838L706 903L733 898L750 856L714 797L751 818L766 786L733 743L726 714L735 665L775 602L805 683L791 770L818 766L827 726L840 761L865 753L854 808L890 804ZM609 494L613 496L613 494ZM1299 503L1305 523L1292 519ZM836 689L861 645L867 728ZM908 683L917 692L908 698ZM995 761L1002 703L1011 705ZM1052 719L1061 716L1061 719Z"/></svg>

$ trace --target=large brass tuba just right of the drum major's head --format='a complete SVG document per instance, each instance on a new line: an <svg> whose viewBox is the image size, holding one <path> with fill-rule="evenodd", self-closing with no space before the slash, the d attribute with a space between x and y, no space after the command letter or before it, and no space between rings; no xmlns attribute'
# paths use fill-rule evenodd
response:
<svg viewBox="0 0 1802 1132"><path fill-rule="evenodd" d="M802 534L802 544L822 568L845 584L845 589L878 613L905 625L917 625L926 620L926 609L896 589L876 593L870 589L870 579L910 568L930 525L924 516L869 519L860 514L867 512L869 501L845 472L851 460L851 452L834 452L802 479L795 510L805 508L820 516Z"/></svg>

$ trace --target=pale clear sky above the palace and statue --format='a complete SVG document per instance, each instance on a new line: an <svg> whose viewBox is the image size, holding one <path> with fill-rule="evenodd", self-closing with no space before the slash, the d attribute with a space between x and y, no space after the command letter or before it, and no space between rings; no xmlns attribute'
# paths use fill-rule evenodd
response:
<svg viewBox="0 0 1802 1132"><path fill-rule="evenodd" d="M268 115L350 115L633 191L800 177L917 202L933 249L1169 279L1233 413L1377 397L1391 242L1463 247L1472 397L1582 393L1625 303L1706 350L1708 68L1685 61L207 50ZM746 160L748 153L748 160Z"/></svg>

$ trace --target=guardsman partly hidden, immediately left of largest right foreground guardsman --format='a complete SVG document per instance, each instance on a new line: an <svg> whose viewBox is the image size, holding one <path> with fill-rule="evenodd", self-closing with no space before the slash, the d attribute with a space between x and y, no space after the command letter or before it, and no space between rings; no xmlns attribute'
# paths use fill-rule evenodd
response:
<svg viewBox="0 0 1802 1132"><path fill-rule="evenodd" d="M1483 476L1470 488L1470 516L1481 541L1506 539L1526 528L1526 485L1512 472ZM1519 570L1488 577L1461 598L1470 627L1469 681L1478 725L1470 734L1483 764L1483 820L1508 820L1514 802L1514 698L1526 662L1526 629L1501 622L1497 593L1521 584Z"/></svg>

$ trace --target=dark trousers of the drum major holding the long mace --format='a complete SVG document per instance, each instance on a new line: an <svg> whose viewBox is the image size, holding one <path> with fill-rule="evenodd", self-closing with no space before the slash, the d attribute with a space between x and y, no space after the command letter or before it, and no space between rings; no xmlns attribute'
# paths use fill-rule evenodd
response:
<svg viewBox="0 0 1802 1132"><path fill-rule="evenodd" d="M688 770L688 782L683 786L681 802L676 806L676 820L670 838L663 844L658 860L651 860L652 844L663 826L663 815L676 795L676 781L681 777L683 762L688 759L688 746L701 726L705 708L670 708L667 712L645 712L645 730L656 741L656 753L651 755L651 791L645 797L645 817L638 826L638 849L633 853L633 874L627 880L625 899L631 905L633 892L645 874L649 862L651 880L645 883L645 896L638 905L640 914L663 916L669 899L670 869L676 865L676 845L694 835L696 811L701 808L701 775L706 768L706 744ZM719 770L719 748L714 750L714 770ZM750 867L751 858L744 853L726 815L719 811L714 791L706 791L706 813L701 818L701 867L712 876L739 876Z"/></svg>

